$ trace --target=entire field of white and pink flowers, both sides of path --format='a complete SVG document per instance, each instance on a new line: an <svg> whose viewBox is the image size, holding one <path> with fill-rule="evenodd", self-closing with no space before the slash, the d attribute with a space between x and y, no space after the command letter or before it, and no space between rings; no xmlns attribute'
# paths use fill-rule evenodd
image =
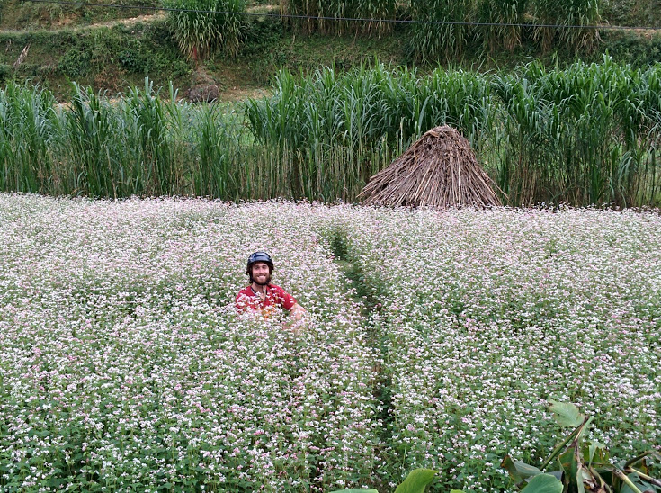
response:
<svg viewBox="0 0 661 493"><path fill-rule="evenodd" d="M661 217L0 195L0 490L511 488L661 444ZM309 311L237 314L247 255ZM341 259L341 262L338 262Z"/></svg>

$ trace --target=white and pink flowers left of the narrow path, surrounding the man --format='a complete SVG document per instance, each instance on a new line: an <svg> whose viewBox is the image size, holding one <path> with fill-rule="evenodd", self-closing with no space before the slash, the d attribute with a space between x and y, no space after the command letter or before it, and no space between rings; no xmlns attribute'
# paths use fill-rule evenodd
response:
<svg viewBox="0 0 661 493"><path fill-rule="evenodd" d="M0 490L368 478L376 353L313 217L277 202L0 195ZM302 335L284 314L234 309L255 250L308 309Z"/></svg>

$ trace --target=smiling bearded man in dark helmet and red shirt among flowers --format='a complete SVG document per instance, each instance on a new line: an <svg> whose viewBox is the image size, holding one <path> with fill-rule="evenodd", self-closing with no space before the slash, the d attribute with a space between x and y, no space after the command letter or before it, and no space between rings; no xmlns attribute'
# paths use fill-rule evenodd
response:
<svg viewBox="0 0 661 493"><path fill-rule="evenodd" d="M255 252L248 257L246 274L250 277L250 285L238 291L235 304L239 311L253 309L264 316L270 316L276 307L290 312L293 322L298 322L307 310L280 286L271 283L273 261L271 255L265 252Z"/></svg>

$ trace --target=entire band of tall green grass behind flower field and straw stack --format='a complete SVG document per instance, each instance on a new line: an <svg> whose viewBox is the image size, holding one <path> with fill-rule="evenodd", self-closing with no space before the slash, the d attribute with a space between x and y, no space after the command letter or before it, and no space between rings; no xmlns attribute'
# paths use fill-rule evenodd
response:
<svg viewBox="0 0 661 493"><path fill-rule="evenodd" d="M507 75L377 63L281 71L272 97L179 102L148 80L71 103L0 91L0 190L353 201L426 130L461 131L505 203L661 205L661 67L530 64Z"/></svg>

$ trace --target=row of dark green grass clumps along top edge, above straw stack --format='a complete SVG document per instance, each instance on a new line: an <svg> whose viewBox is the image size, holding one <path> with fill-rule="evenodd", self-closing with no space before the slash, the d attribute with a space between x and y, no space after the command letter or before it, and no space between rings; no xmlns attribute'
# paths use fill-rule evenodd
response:
<svg viewBox="0 0 661 493"><path fill-rule="evenodd" d="M333 18L393 19L396 12L396 4L384 0L335 0L325 3L288 0L284 4L289 13L323 18L294 21L295 24L302 25L307 32L316 29L340 34L347 30L371 32L371 24L334 21ZM469 47L479 49L480 42L487 53L494 53L502 48L512 51L521 43L522 28L509 24L537 23L558 26L540 27L532 33L544 51L549 51L558 44L567 49L589 50L594 49L599 40L599 31L592 27L601 21L598 0L410 0L397 6L406 20L415 22L410 28L406 44L418 61L460 59ZM420 21L433 23L418 23ZM485 25L475 25L474 22L484 22ZM505 25L489 25L492 23ZM575 29L576 26L586 27Z"/></svg>

